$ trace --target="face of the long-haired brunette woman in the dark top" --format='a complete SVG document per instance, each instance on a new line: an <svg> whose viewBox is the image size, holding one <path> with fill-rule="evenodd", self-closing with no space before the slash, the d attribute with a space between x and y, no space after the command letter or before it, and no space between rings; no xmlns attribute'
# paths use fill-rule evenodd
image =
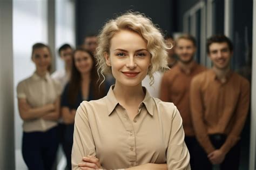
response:
<svg viewBox="0 0 256 170"><path fill-rule="evenodd" d="M93 66L93 60L89 53L85 51L77 51L74 54L74 59L75 66L81 74L90 73Z"/></svg>

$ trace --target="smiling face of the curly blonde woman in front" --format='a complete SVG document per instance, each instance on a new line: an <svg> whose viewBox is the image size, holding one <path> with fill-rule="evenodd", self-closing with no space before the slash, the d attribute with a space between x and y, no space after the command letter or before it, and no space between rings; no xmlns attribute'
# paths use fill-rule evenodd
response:
<svg viewBox="0 0 256 170"><path fill-rule="evenodd" d="M145 40L136 32L121 30L112 37L110 44L110 53L104 55L116 85L141 85L151 64Z"/></svg>

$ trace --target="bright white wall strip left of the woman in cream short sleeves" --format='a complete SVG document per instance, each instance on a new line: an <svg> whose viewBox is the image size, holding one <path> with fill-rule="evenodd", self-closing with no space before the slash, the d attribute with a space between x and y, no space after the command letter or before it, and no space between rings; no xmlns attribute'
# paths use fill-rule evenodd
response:
<svg viewBox="0 0 256 170"><path fill-rule="evenodd" d="M32 45L48 43L47 4L47 0L13 0L15 162L19 170L26 166L21 154L22 120L17 108L16 87L35 71L31 61Z"/></svg>

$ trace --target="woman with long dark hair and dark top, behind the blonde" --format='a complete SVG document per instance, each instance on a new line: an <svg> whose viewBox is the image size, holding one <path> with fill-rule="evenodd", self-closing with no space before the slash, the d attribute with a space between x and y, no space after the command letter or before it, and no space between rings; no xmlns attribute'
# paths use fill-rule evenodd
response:
<svg viewBox="0 0 256 170"><path fill-rule="evenodd" d="M76 109L83 100L95 100L106 95L109 86L100 85L95 57L84 49L73 53L71 78L62 94L61 112L65 127L64 147L67 166L71 169L71 150L73 145L73 126Z"/></svg>

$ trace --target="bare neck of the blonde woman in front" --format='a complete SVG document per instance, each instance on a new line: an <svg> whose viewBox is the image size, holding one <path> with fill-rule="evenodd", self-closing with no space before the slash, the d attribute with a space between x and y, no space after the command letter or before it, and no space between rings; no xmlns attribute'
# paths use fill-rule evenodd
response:
<svg viewBox="0 0 256 170"><path fill-rule="evenodd" d="M121 105L138 105L145 97L141 83L137 86L124 86L116 82L113 92Z"/></svg>

